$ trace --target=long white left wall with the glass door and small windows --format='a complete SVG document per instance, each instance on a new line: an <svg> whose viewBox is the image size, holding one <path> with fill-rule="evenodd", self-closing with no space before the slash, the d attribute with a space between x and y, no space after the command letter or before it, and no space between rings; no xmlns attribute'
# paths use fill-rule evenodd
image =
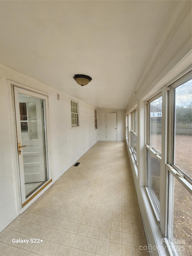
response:
<svg viewBox="0 0 192 256"><path fill-rule="evenodd" d="M1 65L0 231L23 211L23 209L20 209L18 192L16 143L14 140L14 123L12 121L13 110L10 107L12 97L7 80L28 86L31 90L38 90L48 95L53 181L58 179L98 141L98 129L95 130L94 107L79 101L80 127L71 128L69 95L55 91L49 86ZM59 100L57 100L57 94L59 94Z"/></svg>

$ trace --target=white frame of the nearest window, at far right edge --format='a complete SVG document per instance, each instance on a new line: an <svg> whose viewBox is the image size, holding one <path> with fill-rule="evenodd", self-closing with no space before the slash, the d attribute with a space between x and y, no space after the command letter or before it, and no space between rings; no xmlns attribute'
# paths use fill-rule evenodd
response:
<svg viewBox="0 0 192 256"><path fill-rule="evenodd" d="M192 194L192 181L184 171L179 169L174 164L174 149L175 149L175 93L174 89L186 83L192 79L191 71L186 75L178 79L176 82L172 83L167 87L169 92L169 141L168 143L168 163L166 166L166 179L167 179L167 210L166 210L166 219L165 219L165 242L170 246L170 250L173 255L178 255L175 245L172 241L173 238L173 218L174 218L174 178L190 193Z"/></svg>

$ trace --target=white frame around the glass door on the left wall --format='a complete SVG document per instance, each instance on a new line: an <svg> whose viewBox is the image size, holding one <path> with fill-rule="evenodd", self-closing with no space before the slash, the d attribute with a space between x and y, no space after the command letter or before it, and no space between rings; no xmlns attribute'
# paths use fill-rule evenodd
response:
<svg viewBox="0 0 192 256"><path fill-rule="evenodd" d="M49 128L49 104L48 104L48 95L46 93L42 93L36 89L31 89L28 86L21 85L19 83L7 80L8 82L8 91L9 91L9 107L10 107L10 127L11 127L11 141L12 141L12 159L13 159L13 177L14 177L14 188L16 195L16 212L17 215L25 211L38 197L41 196L52 184L52 159L50 154L50 128ZM47 97L45 102L46 108L46 135L47 135L47 157L48 157L48 173L49 180L40 187L37 191L35 191L28 200L24 204L21 201L21 190L20 190L20 175L19 175L19 159L18 159L18 148L17 148L17 136L16 136L16 118L15 118L15 103L14 103L14 92L13 86L19 87L21 89L28 90L30 92L38 93L39 95L43 95Z"/></svg>

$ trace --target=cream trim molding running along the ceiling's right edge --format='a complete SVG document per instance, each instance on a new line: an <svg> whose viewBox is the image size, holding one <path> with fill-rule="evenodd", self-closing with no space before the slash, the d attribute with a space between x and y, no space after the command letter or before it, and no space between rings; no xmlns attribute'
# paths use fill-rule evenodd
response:
<svg viewBox="0 0 192 256"><path fill-rule="evenodd" d="M169 37L170 31L173 28L173 26L176 23L176 20L178 19L179 15L181 14L184 5L186 4L186 0L185 1L178 1L174 11L172 12L172 14L170 15L167 24L165 25L159 39L158 39L158 44L157 47L155 48L151 59L149 60L149 64L147 65L146 69L144 70L142 76L139 79L139 83L138 86L136 87L136 91L138 88L140 88L140 86L143 84L143 81L145 80L145 77L147 75L147 73L149 72L150 68L152 68L154 66L154 62L158 56L158 53L160 52L161 48L163 47L163 45L166 43L166 46L169 44L171 38ZM178 24L180 25L180 24ZM178 26L176 27L176 30L178 29ZM175 32L176 32L175 30ZM167 41L166 41L167 40Z"/></svg>

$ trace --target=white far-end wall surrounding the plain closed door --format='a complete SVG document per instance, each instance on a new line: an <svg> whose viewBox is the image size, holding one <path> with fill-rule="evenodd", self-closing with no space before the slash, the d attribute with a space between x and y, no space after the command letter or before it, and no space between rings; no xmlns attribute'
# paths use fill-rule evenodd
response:
<svg viewBox="0 0 192 256"><path fill-rule="evenodd" d="M119 109L98 109L98 130L99 140L106 140L105 137L105 112L117 112L117 140L125 140L125 110Z"/></svg>

